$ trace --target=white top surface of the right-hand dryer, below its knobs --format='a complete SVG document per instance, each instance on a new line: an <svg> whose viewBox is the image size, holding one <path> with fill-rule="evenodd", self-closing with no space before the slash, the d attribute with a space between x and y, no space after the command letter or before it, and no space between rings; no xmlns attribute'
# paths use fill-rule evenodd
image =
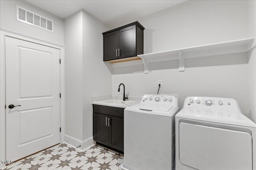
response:
<svg viewBox="0 0 256 170"><path fill-rule="evenodd" d="M223 123L228 125L256 127L256 124L242 113L237 111L230 111L228 109L212 110L209 108L198 109L194 107L186 107L181 109L180 112L176 114L176 117L214 123Z"/></svg>

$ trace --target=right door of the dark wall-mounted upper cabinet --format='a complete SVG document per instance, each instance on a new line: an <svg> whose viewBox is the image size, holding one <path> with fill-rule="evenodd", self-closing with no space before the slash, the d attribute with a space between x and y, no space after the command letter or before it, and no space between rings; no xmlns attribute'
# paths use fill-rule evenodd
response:
<svg viewBox="0 0 256 170"><path fill-rule="evenodd" d="M119 30L119 58L136 56L136 25Z"/></svg>

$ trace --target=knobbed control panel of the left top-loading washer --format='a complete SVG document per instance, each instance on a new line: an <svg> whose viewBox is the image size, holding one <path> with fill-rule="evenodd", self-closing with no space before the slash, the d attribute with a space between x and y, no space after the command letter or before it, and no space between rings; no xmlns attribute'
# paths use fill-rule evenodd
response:
<svg viewBox="0 0 256 170"><path fill-rule="evenodd" d="M178 99L175 96L145 94L140 101L141 104L176 105Z"/></svg>

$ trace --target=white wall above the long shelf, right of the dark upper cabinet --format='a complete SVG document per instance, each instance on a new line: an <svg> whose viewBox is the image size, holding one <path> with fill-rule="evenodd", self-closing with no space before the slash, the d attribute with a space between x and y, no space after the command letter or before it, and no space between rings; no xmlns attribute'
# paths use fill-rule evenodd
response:
<svg viewBox="0 0 256 170"><path fill-rule="evenodd" d="M247 37L246 1L187 1L139 18L144 53Z"/></svg>

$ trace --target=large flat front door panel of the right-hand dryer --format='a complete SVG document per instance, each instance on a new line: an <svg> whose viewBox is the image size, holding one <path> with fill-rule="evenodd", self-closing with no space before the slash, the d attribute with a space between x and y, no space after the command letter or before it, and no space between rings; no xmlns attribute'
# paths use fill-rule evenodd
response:
<svg viewBox="0 0 256 170"><path fill-rule="evenodd" d="M246 132L182 122L179 153L182 164L198 170L252 170L252 136Z"/></svg>

